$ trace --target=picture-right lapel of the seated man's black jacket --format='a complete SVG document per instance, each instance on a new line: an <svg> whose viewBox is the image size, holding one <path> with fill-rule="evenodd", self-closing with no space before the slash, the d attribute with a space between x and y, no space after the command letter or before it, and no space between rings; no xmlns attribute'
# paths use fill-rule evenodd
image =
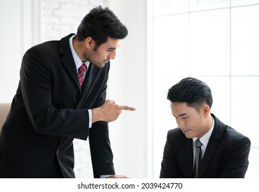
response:
<svg viewBox="0 0 259 192"><path fill-rule="evenodd" d="M199 178L204 177L204 173L210 163L210 160L214 154L214 151L219 147L218 140L221 139L221 121L217 119L214 115L214 129L210 136L210 141L208 142L208 146L206 147L206 152L204 154L204 158L201 160L201 167L199 167Z"/></svg>

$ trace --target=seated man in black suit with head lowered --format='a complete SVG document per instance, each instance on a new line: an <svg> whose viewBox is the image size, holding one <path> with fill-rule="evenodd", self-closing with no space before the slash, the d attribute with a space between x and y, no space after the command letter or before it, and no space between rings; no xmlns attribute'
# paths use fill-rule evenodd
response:
<svg viewBox="0 0 259 192"><path fill-rule="evenodd" d="M160 178L244 178L251 142L210 113L208 85L186 77L169 89L167 99L178 128L167 134ZM201 159L194 176L197 139Z"/></svg>

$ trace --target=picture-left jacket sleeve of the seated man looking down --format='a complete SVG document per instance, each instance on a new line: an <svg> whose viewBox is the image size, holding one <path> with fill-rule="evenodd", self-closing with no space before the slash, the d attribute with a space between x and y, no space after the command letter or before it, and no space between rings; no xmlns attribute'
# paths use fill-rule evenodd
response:
<svg viewBox="0 0 259 192"><path fill-rule="evenodd" d="M180 169L176 163L175 151L173 148L170 131L167 134L167 142L164 145L164 154L161 163L160 178L180 178Z"/></svg>

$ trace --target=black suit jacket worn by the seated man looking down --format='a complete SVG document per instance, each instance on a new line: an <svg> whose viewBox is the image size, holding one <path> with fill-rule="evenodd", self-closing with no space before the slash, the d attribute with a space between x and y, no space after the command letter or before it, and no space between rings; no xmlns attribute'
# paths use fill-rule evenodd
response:
<svg viewBox="0 0 259 192"><path fill-rule="evenodd" d="M244 178L251 142L214 118L214 130L199 167L199 178ZM179 129L169 130L160 178L193 178L193 139Z"/></svg>

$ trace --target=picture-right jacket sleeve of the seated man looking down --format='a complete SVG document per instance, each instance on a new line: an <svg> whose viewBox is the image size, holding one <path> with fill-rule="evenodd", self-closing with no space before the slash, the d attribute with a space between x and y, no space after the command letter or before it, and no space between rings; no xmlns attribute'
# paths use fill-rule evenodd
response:
<svg viewBox="0 0 259 192"><path fill-rule="evenodd" d="M218 178L245 178L250 146L251 141L245 136L235 139L226 151L225 164Z"/></svg>

